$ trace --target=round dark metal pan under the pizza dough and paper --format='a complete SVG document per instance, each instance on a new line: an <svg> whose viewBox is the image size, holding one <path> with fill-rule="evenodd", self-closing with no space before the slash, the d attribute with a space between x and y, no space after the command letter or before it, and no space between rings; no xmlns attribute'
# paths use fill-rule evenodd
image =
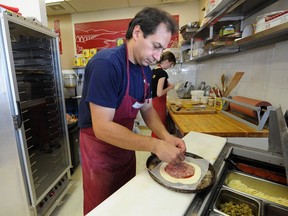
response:
<svg viewBox="0 0 288 216"><path fill-rule="evenodd" d="M202 157L186 152L185 153L186 157L192 157L195 159L203 159ZM203 159L204 160L204 159ZM154 179L157 183L159 183L161 186L172 190L172 191L176 191L176 192L181 192L181 193L200 193L203 191L206 191L208 189L210 189L212 187L212 185L214 184L215 180L216 180L216 173L215 173L215 169L212 166L212 164L210 164L209 162L209 166L208 166L208 171L205 174L205 176L203 177L203 179L201 181L199 181L197 184L198 186L196 187L196 189L179 189L178 187L173 187L173 186L167 186L166 184L164 184L160 179L158 179L157 177L155 177L152 173L151 170L156 167L159 163L161 163L162 161L155 155L152 154L146 161L146 168L148 169L148 173L149 175L152 177L152 179Z"/></svg>

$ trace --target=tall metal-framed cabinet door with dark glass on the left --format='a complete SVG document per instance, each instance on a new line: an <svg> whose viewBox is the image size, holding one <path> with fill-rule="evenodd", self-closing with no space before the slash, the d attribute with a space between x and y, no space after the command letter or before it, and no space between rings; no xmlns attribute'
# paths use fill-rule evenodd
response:
<svg viewBox="0 0 288 216"><path fill-rule="evenodd" d="M58 38L39 23L12 13L1 14L1 34L1 62L7 64L1 73L6 77L14 139L31 205L42 215L68 185L71 166Z"/></svg>

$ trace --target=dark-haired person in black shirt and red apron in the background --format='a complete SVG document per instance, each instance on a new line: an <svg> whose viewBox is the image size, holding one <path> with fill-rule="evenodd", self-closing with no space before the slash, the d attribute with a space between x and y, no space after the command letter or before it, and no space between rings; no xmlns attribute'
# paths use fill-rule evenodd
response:
<svg viewBox="0 0 288 216"><path fill-rule="evenodd" d="M176 58L170 51L166 51L161 55L157 66L153 69L152 76L152 104L159 114L162 123L166 126L166 102L167 93L174 88L173 83L168 82L168 74L165 70L176 65ZM158 138L154 132L152 137Z"/></svg>

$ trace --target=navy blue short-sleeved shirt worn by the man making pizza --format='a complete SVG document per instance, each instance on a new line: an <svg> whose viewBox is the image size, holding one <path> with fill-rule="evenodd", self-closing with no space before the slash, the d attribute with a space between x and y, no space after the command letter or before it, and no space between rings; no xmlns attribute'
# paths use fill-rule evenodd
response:
<svg viewBox="0 0 288 216"><path fill-rule="evenodd" d="M129 61L130 96L143 100L144 82L140 65ZM89 102L117 109L127 87L126 45L99 51L85 68L82 98L79 104L78 125L92 127ZM149 66L143 67L146 80L151 84L152 72ZM151 89L149 89L151 92ZM151 97L151 93L146 98Z"/></svg>

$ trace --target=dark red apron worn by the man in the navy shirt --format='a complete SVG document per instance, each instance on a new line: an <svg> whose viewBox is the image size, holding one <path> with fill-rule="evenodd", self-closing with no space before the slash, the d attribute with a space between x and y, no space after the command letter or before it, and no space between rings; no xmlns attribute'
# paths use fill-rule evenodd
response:
<svg viewBox="0 0 288 216"><path fill-rule="evenodd" d="M129 95L130 69L127 52L126 48L128 84L113 121L132 130L138 110L145 101L148 84L141 68L145 82L143 101L138 102ZM136 156L135 151L122 149L97 139L93 128L80 130L80 150L86 215L135 176Z"/></svg>

